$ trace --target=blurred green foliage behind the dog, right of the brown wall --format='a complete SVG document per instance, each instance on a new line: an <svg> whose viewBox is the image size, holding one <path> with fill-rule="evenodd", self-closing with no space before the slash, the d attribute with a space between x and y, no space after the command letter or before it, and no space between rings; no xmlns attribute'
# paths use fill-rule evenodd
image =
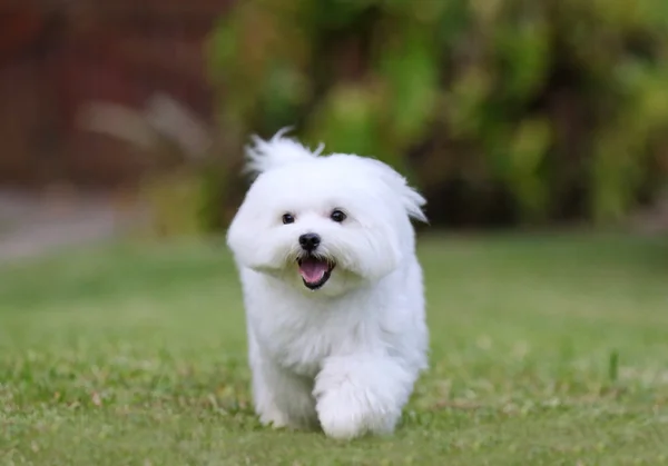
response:
<svg viewBox="0 0 668 466"><path fill-rule="evenodd" d="M209 44L230 170L294 126L409 173L436 222L618 220L666 179L665 0L246 0Z"/></svg>

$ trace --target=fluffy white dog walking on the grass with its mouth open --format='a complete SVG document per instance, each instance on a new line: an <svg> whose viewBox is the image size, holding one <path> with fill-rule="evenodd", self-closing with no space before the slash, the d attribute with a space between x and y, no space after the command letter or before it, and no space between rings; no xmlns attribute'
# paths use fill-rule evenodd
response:
<svg viewBox="0 0 668 466"><path fill-rule="evenodd" d="M265 425L390 434L428 366L411 218L425 200L387 165L321 156L279 131L227 234L243 284L253 396Z"/></svg>

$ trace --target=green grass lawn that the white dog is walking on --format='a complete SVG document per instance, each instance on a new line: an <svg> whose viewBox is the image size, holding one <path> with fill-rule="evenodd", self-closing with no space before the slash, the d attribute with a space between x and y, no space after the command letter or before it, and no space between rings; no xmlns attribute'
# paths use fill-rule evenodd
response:
<svg viewBox="0 0 668 466"><path fill-rule="evenodd" d="M0 464L668 464L666 245L423 238L432 368L352 443L258 425L220 245L4 266Z"/></svg>

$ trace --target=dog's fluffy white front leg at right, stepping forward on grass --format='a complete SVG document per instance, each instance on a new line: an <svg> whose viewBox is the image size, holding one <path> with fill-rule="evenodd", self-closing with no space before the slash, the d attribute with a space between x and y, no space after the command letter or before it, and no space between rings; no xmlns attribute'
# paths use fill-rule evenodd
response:
<svg viewBox="0 0 668 466"><path fill-rule="evenodd" d="M315 380L317 416L330 437L390 434L415 376L387 356L330 357Z"/></svg>

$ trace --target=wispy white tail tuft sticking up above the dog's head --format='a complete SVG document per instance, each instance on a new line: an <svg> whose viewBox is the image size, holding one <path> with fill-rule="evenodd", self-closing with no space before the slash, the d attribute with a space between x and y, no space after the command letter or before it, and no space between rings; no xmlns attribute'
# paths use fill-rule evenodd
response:
<svg viewBox="0 0 668 466"><path fill-rule="evenodd" d="M314 151L302 146L294 139L285 137L291 128L283 128L269 140L263 140L254 136L253 143L246 147L245 171L257 176L267 170L282 167L287 163L304 161L320 156L324 145L320 145Z"/></svg>

